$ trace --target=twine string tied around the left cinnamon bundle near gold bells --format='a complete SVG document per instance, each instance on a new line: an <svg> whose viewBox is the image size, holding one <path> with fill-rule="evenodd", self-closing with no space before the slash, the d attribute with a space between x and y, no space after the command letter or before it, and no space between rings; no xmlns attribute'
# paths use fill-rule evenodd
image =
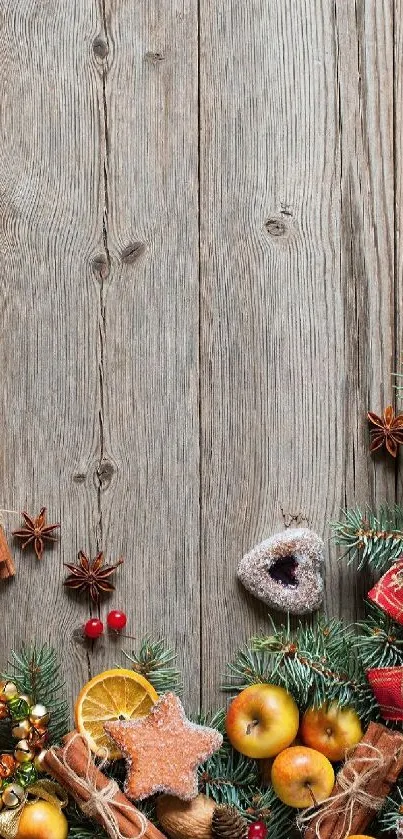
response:
<svg viewBox="0 0 403 839"><path fill-rule="evenodd" d="M69 749L73 747L77 738L80 738L81 741L85 743L86 747L87 765L84 776L78 775L69 763L68 752ZM133 807L130 804L124 804L123 802L115 800L115 796L118 792L120 792L120 790L118 784L113 778L110 779L108 784L102 790L97 789L95 783L91 779L91 766L93 766L93 763L88 739L77 732L64 746L60 757L56 756L54 752L53 755L59 764L63 765L65 769L68 769L71 779L83 790L84 793L86 793L86 797L88 796L88 800L80 803L80 808L83 813L85 813L85 815L89 818L99 816L102 819L105 830L111 839L126 839L120 830L115 811L120 810L123 814L126 811L132 817ZM105 757L98 765L98 769L102 771L107 762L107 758ZM138 820L139 828L136 839L142 839L147 830L147 819L138 811L136 811L136 819Z"/></svg>

